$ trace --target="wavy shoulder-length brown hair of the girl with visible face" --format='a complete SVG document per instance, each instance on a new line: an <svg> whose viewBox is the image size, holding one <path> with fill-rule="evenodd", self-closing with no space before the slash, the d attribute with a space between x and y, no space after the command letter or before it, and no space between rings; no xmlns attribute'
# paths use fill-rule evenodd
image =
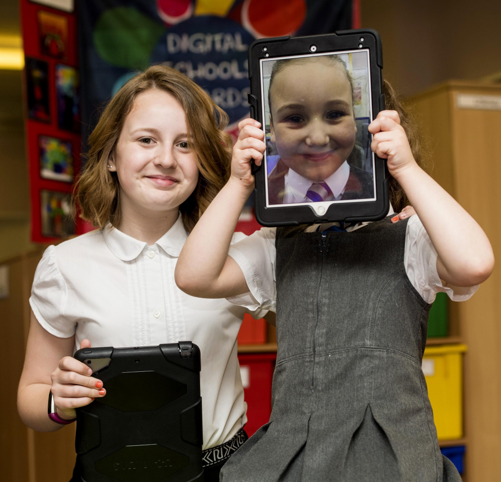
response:
<svg viewBox="0 0 501 482"><path fill-rule="evenodd" d="M171 94L186 115L188 143L200 173L195 190L179 206L188 232L229 177L232 140L223 131L228 123L227 114L184 74L166 65L153 65L130 79L115 94L89 136L87 163L77 179L74 197L80 217L95 227L120 224L119 183L116 173L107 169L108 159L135 98L150 89Z"/></svg>

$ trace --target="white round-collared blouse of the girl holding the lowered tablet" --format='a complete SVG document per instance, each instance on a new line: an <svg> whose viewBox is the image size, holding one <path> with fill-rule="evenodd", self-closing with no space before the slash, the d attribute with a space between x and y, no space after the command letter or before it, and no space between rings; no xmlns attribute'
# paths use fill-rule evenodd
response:
<svg viewBox="0 0 501 482"><path fill-rule="evenodd" d="M111 226L49 246L30 304L49 333L75 335L75 351L85 338L94 347L198 345L205 449L229 440L247 420L236 337L248 310L225 299L195 298L176 286L174 268L186 238L179 216L152 246ZM235 233L233 242L243 238ZM260 308L251 314L265 313Z"/></svg>

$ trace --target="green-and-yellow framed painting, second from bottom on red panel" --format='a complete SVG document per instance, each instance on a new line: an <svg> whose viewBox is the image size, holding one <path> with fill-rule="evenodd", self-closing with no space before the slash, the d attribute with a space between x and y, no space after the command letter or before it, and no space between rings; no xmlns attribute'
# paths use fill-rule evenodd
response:
<svg viewBox="0 0 501 482"><path fill-rule="evenodd" d="M38 138L40 177L54 181L73 182L73 154L69 140L41 135Z"/></svg>

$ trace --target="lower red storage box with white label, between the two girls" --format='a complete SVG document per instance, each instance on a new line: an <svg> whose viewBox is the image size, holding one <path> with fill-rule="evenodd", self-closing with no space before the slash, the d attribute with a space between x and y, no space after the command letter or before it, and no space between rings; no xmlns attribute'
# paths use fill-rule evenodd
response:
<svg viewBox="0 0 501 482"><path fill-rule="evenodd" d="M275 353L238 355L243 394L247 402L247 423L244 428L249 437L270 419L272 379L276 360Z"/></svg>

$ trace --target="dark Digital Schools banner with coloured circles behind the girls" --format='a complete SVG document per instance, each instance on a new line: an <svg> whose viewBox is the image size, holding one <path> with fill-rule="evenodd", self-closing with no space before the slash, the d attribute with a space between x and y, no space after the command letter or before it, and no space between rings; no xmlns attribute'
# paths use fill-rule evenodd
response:
<svg viewBox="0 0 501 482"><path fill-rule="evenodd" d="M358 27L352 20L357 2L80 0L83 139L106 101L138 71L159 62L167 62L203 87L228 114L228 131L234 134L238 121L249 112L248 46L258 38Z"/></svg>

